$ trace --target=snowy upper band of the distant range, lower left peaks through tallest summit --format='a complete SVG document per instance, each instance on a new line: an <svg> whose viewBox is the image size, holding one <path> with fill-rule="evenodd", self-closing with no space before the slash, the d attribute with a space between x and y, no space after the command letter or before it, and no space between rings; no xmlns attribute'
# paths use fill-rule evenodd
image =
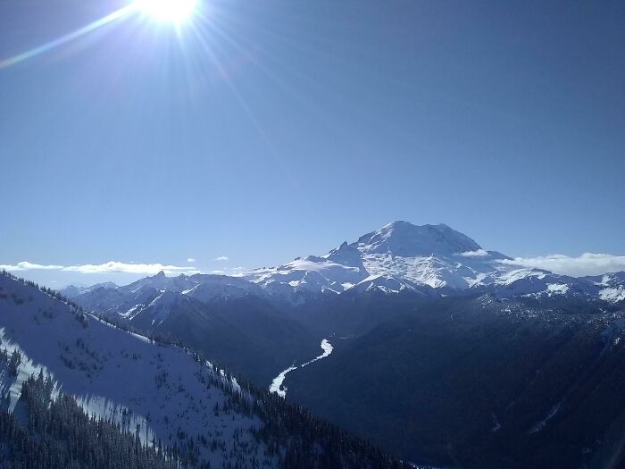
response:
<svg viewBox="0 0 625 469"><path fill-rule="evenodd" d="M609 307L625 301L625 272L582 278L558 275L514 264L512 257L487 251L445 224L392 222L325 255L298 257L237 276L170 278L160 272L124 287L108 282L88 288L70 286L62 292L102 314L133 319L177 296L203 303L254 296L274 306L293 307L374 290L430 298L479 293L493 293L500 299L576 297ZM162 295L163 291L178 295ZM149 315L154 322L164 320L162 315Z"/></svg>

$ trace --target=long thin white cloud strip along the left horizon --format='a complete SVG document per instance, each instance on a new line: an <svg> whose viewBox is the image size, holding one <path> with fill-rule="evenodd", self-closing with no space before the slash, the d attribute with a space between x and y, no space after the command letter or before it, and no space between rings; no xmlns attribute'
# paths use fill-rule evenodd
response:
<svg viewBox="0 0 625 469"><path fill-rule="evenodd" d="M158 272L165 272L168 274L174 273L199 273L195 267L186 267L179 265L169 264L131 264L122 263L117 261L109 261L104 264L80 264L80 265L43 265L33 264L27 261L22 261L17 264L0 264L0 270L9 272L21 272L21 271L61 271L61 272L79 272L79 273L137 273L154 275Z"/></svg>

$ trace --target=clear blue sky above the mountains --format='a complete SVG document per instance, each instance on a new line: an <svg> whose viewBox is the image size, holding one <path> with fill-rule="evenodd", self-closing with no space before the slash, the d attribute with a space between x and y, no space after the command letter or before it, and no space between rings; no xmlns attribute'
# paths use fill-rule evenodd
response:
<svg viewBox="0 0 625 469"><path fill-rule="evenodd" d="M4 0L0 61L124 5ZM0 68L0 264L232 272L398 219L624 255L624 24L622 1L126 15Z"/></svg>

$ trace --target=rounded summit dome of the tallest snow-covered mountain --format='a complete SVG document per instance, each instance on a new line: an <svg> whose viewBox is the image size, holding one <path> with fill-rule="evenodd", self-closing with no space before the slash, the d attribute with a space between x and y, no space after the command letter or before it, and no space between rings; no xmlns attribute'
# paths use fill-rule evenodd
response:
<svg viewBox="0 0 625 469"><path fill-rule="evenodd" d="M478 243L446 224L414 225L392 222L358 239L362 254L390 254L402 257L426 257L432 254L478 251Z"/></svg>

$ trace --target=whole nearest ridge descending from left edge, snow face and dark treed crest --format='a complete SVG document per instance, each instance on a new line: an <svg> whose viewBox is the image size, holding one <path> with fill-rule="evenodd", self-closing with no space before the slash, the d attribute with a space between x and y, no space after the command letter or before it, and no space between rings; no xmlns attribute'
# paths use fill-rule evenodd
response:
<svg viewBox="0 0 625 469"><path fill-rule="evenodd" d="M3 439L21 431L20 444L30 439L38 445L33 425L49 399L70 398L84 414L76 409L57 414L53 431L75 425L67 420L70 414L82 425L97 416L134 433L144 447L158 446L159 454L160 448L171 449L183 466L403 466L301 408L237 381L196 353L118 329L52 290L8 275L0 275L0 348L5 406L0 422L13 429L0 431L4 461L21 456ZM38 388L31 380L37 375L42 376ZM28 389L46 393L43 404L24 394ZM72 440L71 447L93 446L97 423L90 424L94 432L82 431L83 440ZM50 434L51 425L37 428ZM63 438L63 432L54 435Z"/></svg>

